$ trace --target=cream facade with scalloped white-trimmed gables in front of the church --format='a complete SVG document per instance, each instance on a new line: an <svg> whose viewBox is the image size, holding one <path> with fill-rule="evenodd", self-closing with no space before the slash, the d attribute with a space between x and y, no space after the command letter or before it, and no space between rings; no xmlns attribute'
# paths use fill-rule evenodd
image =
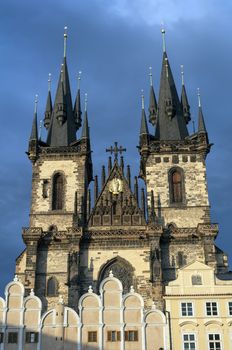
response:
<svg viewBox="0 0 232 350"><path fill-rule="evenodd" d="M79 300L77 313L62 297L41 316L41 300L25 290L17 278L0 298L1 350L160 350L167 349L168 326L164 314L144 302L133 288L123 295L121 282L111 273L90 287Z"/></svg>

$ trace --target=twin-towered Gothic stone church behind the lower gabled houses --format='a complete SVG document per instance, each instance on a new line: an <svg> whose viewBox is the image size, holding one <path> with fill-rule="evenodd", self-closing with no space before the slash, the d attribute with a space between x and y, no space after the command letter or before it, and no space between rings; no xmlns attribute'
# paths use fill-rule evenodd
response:
<svg viewBox="0 0 232 350"><path fill-rule="evenodd" d="M66 34L64 39L66 47ZM200 96L198 128L193 134L187 127L190 120L184 80L179 98L164 45L158 101L152 77L150 81L151 133L142 97L138 176L144 188L140 189L138 177L132 181L130 167L124 166L125 149L117 142L107 149L111 155L101 177L93 177L87 101L82 113L78 87L72 103L65 52L54 103L48 91L47 139L38 136L35 109L27 152L32 164L30 223L23 228L26 248L16 260L20 280L16 282L23 297L33 293L35 300L36 295L36 309L48 315L63 305L59 307L78 319L73 324L79 324L77 312L87 291L97 300L93 309L102 308L102 286L111 276L120 300L122 293L136 293L140 310L157 311L154 322L163 332L157 335L163 340L156 345L153 341L145 345L145 338L139 336L143 344L124 347L121 341L120 349L169 349L166 286L178 277L180 268L194 261L213 268L215 274L228 271L227 257L214 243L218 226L210 219L205 161L211 144ZM129 308L137 305L136 298L134 303ZM144 312L141 317L147 317ZM129 322L132 328L134 322ZM123 333L120 337L124 338ZM102 344L100 348L113 349ZM90 345L83 349L92 349Z"/></svg>

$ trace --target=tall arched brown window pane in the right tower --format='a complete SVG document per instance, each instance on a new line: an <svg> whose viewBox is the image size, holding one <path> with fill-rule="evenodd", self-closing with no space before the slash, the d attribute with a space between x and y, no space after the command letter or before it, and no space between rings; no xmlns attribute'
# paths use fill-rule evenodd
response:
<svg viewBox="0 0 232 350"><path fill-rule="evenodd" d="M169 173L169 188L171 203L183 203L184 183L181 169L172 169Z"/></svg>

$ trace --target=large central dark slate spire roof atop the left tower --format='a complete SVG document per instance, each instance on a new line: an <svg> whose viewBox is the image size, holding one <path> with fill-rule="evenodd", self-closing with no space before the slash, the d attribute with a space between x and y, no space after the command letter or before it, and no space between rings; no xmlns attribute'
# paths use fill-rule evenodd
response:
<svg viewBox="0 0 232 350"><path fill-rule="evenodd" d="M72 97L69 84L68 67L64 57L62 73L60 74L51 125L48 131L47 143L50 146L68 146L76 141L76 125L72 108ZM58 106L65 110L65 120L61 124L57 120Z"/></svg>

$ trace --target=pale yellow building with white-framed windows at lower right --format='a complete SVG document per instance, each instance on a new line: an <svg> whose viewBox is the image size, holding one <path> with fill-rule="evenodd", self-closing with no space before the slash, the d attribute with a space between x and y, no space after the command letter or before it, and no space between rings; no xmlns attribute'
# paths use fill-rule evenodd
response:
<svg viewBox="0 0 232 350"><path fill-rule="evenodd" d="M228 278L228 280L226 279ZM166 287L170 350L232 349L232 281L195 261Z"/></svg>

